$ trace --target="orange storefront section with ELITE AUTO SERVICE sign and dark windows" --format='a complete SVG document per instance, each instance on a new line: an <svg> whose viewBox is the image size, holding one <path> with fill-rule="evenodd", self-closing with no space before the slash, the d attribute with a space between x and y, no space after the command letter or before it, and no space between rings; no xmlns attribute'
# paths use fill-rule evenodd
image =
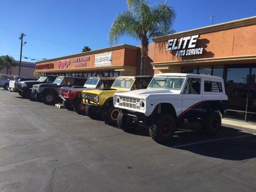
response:
<svg viewBox="0 0 256 192"><path fill-rule="evenodd" d="M153 39L155 73L183 72L222 77L227 116L256 121L256 17Z"/></svg>

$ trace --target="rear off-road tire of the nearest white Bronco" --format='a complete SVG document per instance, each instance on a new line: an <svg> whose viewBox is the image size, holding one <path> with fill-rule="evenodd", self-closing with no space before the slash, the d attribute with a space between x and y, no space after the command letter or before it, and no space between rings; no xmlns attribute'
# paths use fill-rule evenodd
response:
<svg viewBox="0 0 256 192"><path fill-rule="evenodd" d="M212 111L201 121L201 129L207 135L216 135L221 128L221 117L218 112Z"/></svg>

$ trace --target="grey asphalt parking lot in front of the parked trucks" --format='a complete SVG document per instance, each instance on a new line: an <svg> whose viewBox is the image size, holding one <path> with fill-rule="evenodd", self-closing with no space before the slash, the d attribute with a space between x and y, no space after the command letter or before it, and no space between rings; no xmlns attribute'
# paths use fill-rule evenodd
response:
<svg viewBox="0 0 256 192"><path fill-rule="evenodd" d="M185 123L157 144L0 90L0 192L255 192L256 131Z"/></svg>

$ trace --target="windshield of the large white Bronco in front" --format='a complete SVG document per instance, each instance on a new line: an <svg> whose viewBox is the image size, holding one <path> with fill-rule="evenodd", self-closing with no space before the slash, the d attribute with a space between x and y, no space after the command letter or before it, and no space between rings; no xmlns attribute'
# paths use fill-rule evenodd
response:
<svg viewBox="0 0 256 192"><path fill-rule="evenodd" d="M155 77L148 87L181 90L184 80L183 77Z"/></svg>

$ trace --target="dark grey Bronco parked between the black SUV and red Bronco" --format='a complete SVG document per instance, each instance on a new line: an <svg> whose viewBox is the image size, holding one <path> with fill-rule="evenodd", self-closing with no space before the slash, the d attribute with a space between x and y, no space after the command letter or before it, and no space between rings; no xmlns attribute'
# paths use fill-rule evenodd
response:
<svg viewBox="0 0 256 192"><path fill-rule="evenodd" d="M57 77L52 84L35 84L32 88L32 94L37 101L45 104L54 104L60 99L59 90L62 86L83 86L86 78L81 77Z"/></svg>

